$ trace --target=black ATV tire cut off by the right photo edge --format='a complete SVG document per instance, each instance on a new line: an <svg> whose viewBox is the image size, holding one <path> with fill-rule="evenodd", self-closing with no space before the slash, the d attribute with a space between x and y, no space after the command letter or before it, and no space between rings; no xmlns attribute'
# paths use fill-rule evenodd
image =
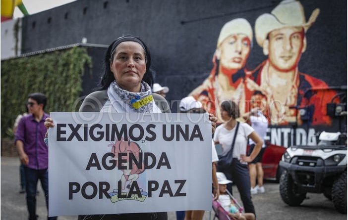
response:
<svg viewBox="0 0 348 220"><path fill-rule="evenodd" d="M345 171L332 186L332 201L335 209L347 214L347 171Z"/></svg>

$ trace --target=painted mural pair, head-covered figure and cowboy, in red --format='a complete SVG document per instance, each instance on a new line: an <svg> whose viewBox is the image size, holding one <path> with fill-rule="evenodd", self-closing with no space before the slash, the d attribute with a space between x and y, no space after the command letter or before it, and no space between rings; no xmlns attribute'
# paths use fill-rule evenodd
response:
<svg viewBox="0 0 348 220"><path fill-rule="evenodd" d="M238 103L241 115L251 110L250 100L256 96L264 103L262 108L273 126L302 124L296 107L307 107L311 125L330 126L326 103L336 92L312 73L301 73L298 62L306 51L306 32L320 13L316 8L308 21L302 4L295 0L280 2L271 13L257 17L254 34L247 20L237 18L221 29L213 55L214 67L210 76L190 95L203 103L208 112L217 115L220 122L220 103L232 99ZM245 68L252 46L260 46L267 56L254 70ZM311 90L312 88L319 90ZM262 96L260 96L262 94ZM290 135L290 134L289 134Z"/></svg>

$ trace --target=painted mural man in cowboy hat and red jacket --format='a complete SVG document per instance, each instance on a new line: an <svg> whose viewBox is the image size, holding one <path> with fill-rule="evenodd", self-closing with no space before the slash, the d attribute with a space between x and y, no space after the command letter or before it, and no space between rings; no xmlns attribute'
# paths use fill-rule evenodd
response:
<svg viewBox="0 0 348 220"><path fill-rule="evenodd" d="M309 92L302 97L308 88L328 86L298 70L298 62L307 46L306 32L319 12L319 8L313 10L306 22L299 1L283 0L270 14L262 14L256 19L255 38L268 58L254 71L254 82L247 79L247 87L261 90L267 96L271 124L295 122L296 110L291 107L300 105L313 106L312 125L331 124L331 119L326 116L326 103L331 101L335 92L329 91L320 96Z"/></svg>

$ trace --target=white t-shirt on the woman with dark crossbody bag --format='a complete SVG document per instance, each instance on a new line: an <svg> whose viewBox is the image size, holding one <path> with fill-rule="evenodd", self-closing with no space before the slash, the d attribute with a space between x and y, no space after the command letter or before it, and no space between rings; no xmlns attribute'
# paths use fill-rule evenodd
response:
<svg viewBox="0 0 348 220"><path fill-rule="evenodd" d="M232 146L232 140L234 137L234 132L237 126L234 126L232 130L227 130L225 128L225 123L216 128L214 133L214 141L218 141L223 148L222 155L226 155ZM240 160L240 155L246 155L246 145L248 141L248 136L254 131L248 124L240 122L238 133L235 137L234 147L233 147L233 158Z"/></svg>

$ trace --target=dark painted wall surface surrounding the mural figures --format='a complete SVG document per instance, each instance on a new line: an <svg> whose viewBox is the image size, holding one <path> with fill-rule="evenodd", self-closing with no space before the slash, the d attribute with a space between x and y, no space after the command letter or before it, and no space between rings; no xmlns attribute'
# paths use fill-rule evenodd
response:
<svg viewBox="0 0 348 220"><path fill-rule="evenodd" d="M106 8L105 2L108 2ZM216 42L226 22L242 17L254 27L256 18L269 13L279 2L78 0L24 17L22 52L73 44L83 37L88 43L110 44L122 34L137 35L151 50L156 80L171 89L168 99L180 99L209 75ZM306 34L307 50L299 70L329 86L347 85L347 1L303 0L301 3L307 20L316 7L321 12ZM100 59L94 63L103 59L103 53L98 56ZM254 39L247 66L254 68L265 58Z"/></svg>

